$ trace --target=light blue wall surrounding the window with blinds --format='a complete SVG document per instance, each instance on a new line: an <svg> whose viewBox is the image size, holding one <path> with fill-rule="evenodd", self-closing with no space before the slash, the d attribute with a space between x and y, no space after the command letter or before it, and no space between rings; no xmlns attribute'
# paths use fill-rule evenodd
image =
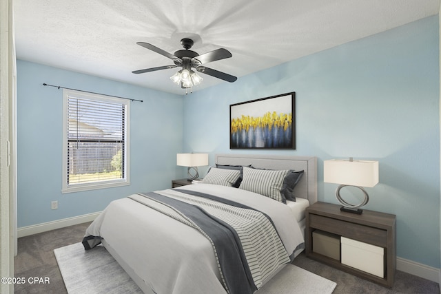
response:
<svg viewBox="0 0 441 294"><path fill-rule="evenodd" d="M143 100L131 102L130 186L61 193L63 91L43 83ZM183 99L104 78L17 61L18 227L102 211L134 192L171 187L182 176ZM59 209L50 202L58 200Z"/></svg>

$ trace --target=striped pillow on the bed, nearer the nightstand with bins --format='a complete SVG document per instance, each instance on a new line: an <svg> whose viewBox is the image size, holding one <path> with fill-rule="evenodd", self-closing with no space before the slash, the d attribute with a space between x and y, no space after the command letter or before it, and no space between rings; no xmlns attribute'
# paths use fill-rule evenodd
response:
<svg viewBox="0 0 441 294"><path fill-rule="evenodd" d="M283 202L283 196L280 189L283 186L283 180L289 173L289 170L273 171L269 169L250 169L243 167L243 180L239 189L252 191L262 194L274 200Z"/></svg>

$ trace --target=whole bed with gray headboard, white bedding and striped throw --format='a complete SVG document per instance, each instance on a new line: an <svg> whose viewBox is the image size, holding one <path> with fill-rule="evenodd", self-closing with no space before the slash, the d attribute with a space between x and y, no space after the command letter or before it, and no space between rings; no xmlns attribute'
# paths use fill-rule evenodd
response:
<svg viewBox="0 0 441 294"><path fill-rule="evenodd" d="M240 188L212 182L229 178L234 185L237 170ZM289 190L295 201L245 189L251 176L285 178L291 171L301 174ZM90 224L83 244L103 244L144 293L254 293L304 248L316 175L315 157L218 154L199 184L113 201Z"/></svg>

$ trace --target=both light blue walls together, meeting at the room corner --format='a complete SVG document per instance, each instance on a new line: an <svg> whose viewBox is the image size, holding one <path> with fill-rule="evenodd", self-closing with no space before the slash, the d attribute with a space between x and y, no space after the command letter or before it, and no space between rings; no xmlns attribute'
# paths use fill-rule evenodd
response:
<svg viewBox="0 0 441 294"><path fill-rule="evenodd" d="M438 42L438 16L429 17L187 96L18 61L18 227L169 187L185 174L181 151L209 152L211 163L229 152L317 156L319 200L336 203L323 160L353 156L380 161L365 208L397 215L397 255L440 268ZM62 92L42 83L145 101L132 103L132 185L61 194ZM292 91L296 150L229 150L230 104Z"/></svg>

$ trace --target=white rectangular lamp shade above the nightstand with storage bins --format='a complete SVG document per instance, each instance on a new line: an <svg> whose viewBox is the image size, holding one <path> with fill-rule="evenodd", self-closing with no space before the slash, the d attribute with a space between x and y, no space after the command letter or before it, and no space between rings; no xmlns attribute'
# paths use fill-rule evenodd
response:
<svg viewBox="0 0 441 294"><path fill-rule="evenodd" d="M378 161L324 161L324 181L340 185L373 187L378 184Z"/></svg>

